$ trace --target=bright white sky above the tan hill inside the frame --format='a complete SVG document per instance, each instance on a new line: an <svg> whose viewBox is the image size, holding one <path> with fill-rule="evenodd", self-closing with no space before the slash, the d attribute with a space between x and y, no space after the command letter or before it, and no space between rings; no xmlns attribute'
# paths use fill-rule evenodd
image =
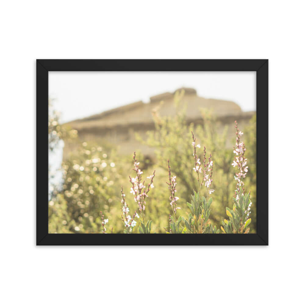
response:
<svg viewBox="0 0 305 305"><path fill-rule="evenodd" d="M61 123L173 92L197 90L205 98L236 102L256 110L256 72L49 72L49 96Z"/></svg>

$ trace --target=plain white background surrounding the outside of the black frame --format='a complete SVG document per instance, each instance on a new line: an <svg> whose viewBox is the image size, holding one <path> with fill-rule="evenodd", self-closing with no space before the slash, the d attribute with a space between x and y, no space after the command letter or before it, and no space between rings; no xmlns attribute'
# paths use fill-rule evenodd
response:
<svg viewBox="0 0 305 305"><path fill-rule="evenodd" d="M302 6L3 2L2 303L302 303ZM36 58L269 58L270 246L36 247Z"/></svg>

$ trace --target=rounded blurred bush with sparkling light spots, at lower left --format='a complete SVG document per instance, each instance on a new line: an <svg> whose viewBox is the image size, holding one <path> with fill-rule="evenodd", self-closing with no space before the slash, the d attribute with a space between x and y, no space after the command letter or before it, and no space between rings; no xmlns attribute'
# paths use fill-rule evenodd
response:
<svg viewBox="0 0 305 305"><path fill-rule="evenodd" d="M123 231L120 185L126 179L123 173L126 173L127 165L128 162L118 157L115 149L82 143L63 162L64 184L60 196L52 199L54 208L49 208L49 223L53 223L62 213L58 213L56 204L63 204L63 199L65 206L62 205L62 208L69 216L64 220L71 231L99 232L100 211L103 211L109 223L116 224L113 226L115 232Z"/></svg>

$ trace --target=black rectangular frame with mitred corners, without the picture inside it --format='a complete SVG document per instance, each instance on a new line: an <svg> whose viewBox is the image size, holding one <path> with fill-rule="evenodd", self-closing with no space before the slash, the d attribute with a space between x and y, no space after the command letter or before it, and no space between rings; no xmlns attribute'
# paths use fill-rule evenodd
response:
<svg viewBox="0 0 305 305"><path fill-rule="evenodd" d="M48 71L256 71L257 234L49 234ZM268 245L267 59L37 59L37 245Z"/></svg>

